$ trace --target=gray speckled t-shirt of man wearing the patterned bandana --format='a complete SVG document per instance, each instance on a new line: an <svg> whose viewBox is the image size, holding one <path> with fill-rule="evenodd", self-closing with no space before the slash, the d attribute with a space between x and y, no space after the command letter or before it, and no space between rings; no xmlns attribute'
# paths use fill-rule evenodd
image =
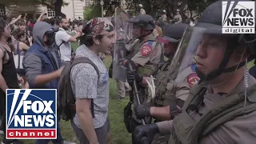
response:
<svg viewBox="0 0 256 144"><path fill-rule="evenodd" d="M108 116L109 105L109 74L106 66L98 55L91 52L85 45L79 46L76 50L77 57L90 58L98 67L98 74L88 63L80 63L71 70L71 86L75 98L93 98L94 99L94 128L102 127ZM77 114L74 117L74 124L81 128Z"/></svg>

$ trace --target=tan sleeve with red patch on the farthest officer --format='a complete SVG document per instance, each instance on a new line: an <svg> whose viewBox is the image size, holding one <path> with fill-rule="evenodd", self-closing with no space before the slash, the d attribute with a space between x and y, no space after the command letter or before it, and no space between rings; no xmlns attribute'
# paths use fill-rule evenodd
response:
<svg viewBox="0 0 256 144"><path fill-rule="evenodd" d="M140 66L145 66L146 62L150 61L150 54L152 52L152 46L146 42L142 45L141 49L138 51L137 54L131 58L132 61L138 63Z"/></svg>

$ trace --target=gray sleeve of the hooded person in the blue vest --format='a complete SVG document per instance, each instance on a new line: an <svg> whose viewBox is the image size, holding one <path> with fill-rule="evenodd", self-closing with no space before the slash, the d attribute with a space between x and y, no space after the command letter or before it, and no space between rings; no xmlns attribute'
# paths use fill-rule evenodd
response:
<svg viewBox="0 0 256 144"><path fill-rule="evenodd" d="M34 54L28 54L23 59L23 66L26 70L26 80L30 86L34 86L35 78L42 74L41 59Z"/></svg>

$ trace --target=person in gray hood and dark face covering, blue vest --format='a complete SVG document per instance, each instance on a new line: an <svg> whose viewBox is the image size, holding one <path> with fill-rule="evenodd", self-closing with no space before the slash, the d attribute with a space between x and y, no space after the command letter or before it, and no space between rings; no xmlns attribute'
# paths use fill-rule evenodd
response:
<svg viewBox="0 0 256 144"><path fill-rule="evenodd" d="M34 25L34 44L26 51L23 65L26 70L26 79L30 89L57 89L58 78L61 76L63 67L58 61L55 50L49 47L54 43L55 30L46 22L37 22ZM62 138L59 119L57 124L57 139L51 140L53 143L65 142ZM36 140L36 144L45 144L50 140Z"/></svg>

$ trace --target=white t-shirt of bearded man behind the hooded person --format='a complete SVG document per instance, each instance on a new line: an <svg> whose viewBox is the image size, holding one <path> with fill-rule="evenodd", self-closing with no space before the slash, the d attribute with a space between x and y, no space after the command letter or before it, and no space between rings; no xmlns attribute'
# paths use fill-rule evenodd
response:
<svg viewBox="0 0 256 144"><path fill-rule="evenodd" d="M60 49L60 55L62 61L70 61L71 59L71 44L69 39L71 38L70 34L68 34L64 29L59 28L58 32L55 35L55 42ZM63 42L63 43L62 43Z"/></svg>

